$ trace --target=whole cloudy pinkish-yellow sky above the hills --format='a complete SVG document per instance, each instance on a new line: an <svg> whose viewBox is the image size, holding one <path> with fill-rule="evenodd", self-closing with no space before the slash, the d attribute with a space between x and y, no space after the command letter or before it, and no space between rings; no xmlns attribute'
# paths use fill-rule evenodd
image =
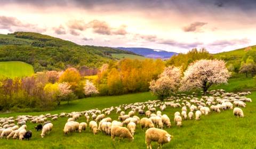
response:
<svg viewBox="0 0 256 149"><path fill-rule="evenodd" d="M0 0L0 34L33 31L81 45L210 53L256 45L254 0Z"/></svg>

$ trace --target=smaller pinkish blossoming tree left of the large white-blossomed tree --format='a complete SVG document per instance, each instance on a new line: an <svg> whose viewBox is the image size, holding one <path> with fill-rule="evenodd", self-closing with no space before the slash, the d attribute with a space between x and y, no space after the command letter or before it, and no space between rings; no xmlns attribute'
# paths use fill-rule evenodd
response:
<svg viewBox="0 0 256 149"><path fill-rule="evenodd" d="M161 100L170 94L177 92L181 81L181 68L167 67L157 80L150 82L150 92L158 96Z"/></svg>

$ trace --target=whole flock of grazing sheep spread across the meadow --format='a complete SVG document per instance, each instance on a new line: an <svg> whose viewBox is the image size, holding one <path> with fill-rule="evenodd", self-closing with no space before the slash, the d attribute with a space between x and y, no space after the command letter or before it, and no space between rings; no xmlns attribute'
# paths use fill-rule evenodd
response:
<svg viewBox="0 0 256 149"><path fill-rule="evenodd" d="M60 114L42 114L42 115L19 115L16 119L0 118L0 134L1 138L19 138L29 139L32 136L31 130L26 130L26 123L38 123L35 129L42 130L41 137L49 134L53 129L53 124L49 120L58 120L59 117L68 117L67 123L63 128L63 133L68 135L75 131L80 133L86 130L89 122L90 131L95 135L99 131L115 137L134 139L137 125L140 125L142 131L146 130L146 144L147 148L151 148L151 142L157 142L158 147L170 142L173 138L164 128L171 127L171 121L168 115L162 114L167 107L181 108L181 112L174 113L174 123L176 126L182 126L182 120L200 120L202 114L210 114L210 112L221 112L223 110L233 109L233 114L238 117L244 117L242 109L245 107L245 102L252 102L251 98L245 97L251 94L247 93L225 93L225 90L211 90L211 96L202 96L197 98L196 93L192 95L177 94L167 98L165 101L148 101L133 104L123 104L116 107L108 107L103 110L92 109L82 112L60 113ZM159 111L156 110L159 108ZM189 112L188 112L189 111ZM110 113L115 112L119 114L117 120L112 120L107 117ZM127 114L125 114L127 112ZM138 115L136 115L138 112ZM85 117L86 122L77 122L82 116ZM143 118L139 118L144 116ZM17 124L15 124L17 123Z"/></svg>

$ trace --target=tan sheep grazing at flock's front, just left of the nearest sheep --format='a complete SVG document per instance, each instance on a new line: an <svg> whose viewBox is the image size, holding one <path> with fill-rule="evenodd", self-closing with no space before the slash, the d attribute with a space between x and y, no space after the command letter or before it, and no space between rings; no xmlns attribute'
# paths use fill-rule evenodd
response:
<svg viewBox="0 0 256 149"><path fill-rule="evenodd" d="M111 127L111 139L115 140L115 137L128 138L133 140L133 136L126 127L114 126Z"/></svg>

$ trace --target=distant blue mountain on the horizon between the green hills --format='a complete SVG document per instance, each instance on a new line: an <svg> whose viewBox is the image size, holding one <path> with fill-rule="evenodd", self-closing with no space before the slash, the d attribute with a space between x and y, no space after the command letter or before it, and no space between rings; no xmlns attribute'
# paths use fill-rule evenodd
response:
<svg viewBox="0 0 256 149"><path fill-rule="evenodd" d="M133 52L145 57L153 58L153 59L169 59L175 54L175 52L163 51L160 49L151 49L151 48L143 48L143 47L117 47L117 49L122 49L124 51Z"/></svg>

